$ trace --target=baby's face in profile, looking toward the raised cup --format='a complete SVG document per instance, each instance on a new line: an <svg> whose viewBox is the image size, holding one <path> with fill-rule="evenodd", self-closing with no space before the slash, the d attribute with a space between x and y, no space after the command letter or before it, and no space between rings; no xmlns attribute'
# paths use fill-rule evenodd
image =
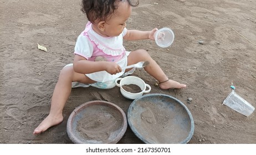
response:
<svg viewBox="0 0 256 155"><path fill-rule="evenodd" d="M105 34L115 37L122 33L126 27L126 20L131 15L131 6L127 2L119 2L119 7L105 24Z"/></svg>

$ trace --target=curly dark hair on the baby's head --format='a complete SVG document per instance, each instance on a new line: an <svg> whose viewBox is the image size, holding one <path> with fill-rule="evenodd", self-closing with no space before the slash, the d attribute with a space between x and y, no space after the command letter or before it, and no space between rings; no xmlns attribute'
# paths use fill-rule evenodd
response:
<svg viewBox="0 0 256 155"><path fill-rule="evenodd" d="M81 11L86 14L86 17L91 23L95 23L96 19L105 21L115 9L117 9L117 2L128 2L130 6L136 7L139 4L139 0L136 3L132 3L132 0L82 0Z"/></svg>

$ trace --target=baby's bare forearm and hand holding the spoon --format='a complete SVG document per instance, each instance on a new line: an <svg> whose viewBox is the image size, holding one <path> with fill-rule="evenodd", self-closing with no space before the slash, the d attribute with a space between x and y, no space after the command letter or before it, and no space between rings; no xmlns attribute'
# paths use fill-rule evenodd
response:
<svg viewBox="0 0 256 155"><path fill-rule="evenodd" d="M73 68L76 73L90 74L97 71L107 71L109 74L119 73L122 69L119 65L109 61L89 61L83 56L75 54Z"/></svg>

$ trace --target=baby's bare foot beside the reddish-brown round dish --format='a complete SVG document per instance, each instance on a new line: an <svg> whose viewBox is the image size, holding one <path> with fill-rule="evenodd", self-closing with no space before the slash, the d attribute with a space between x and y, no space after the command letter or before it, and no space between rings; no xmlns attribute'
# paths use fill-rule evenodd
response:
<svg viewBox="0 0 256 155"><path fill-rule="evenodd" d="M33 135L38 135L42 132L44 132L45 130L47 130L49 127L58 125L60 122L63 121L63 116L60 115L58 117L52 117L50 115L48 115L41 123L40 125L35 128Z"/></svg>

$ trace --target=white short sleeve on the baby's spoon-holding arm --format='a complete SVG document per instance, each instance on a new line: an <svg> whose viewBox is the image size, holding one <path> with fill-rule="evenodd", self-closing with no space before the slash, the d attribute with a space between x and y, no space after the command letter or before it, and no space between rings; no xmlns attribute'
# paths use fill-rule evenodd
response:
<svg viewBox="0 0 256 155"><path fill-rule="evenodd" d="M93 55L93 45L91 44L88 37L83 35L83 33L81 33L78 36L78 40L76 40L74 54L83 56L86 59L90 58L91 55Z"/></svg>

